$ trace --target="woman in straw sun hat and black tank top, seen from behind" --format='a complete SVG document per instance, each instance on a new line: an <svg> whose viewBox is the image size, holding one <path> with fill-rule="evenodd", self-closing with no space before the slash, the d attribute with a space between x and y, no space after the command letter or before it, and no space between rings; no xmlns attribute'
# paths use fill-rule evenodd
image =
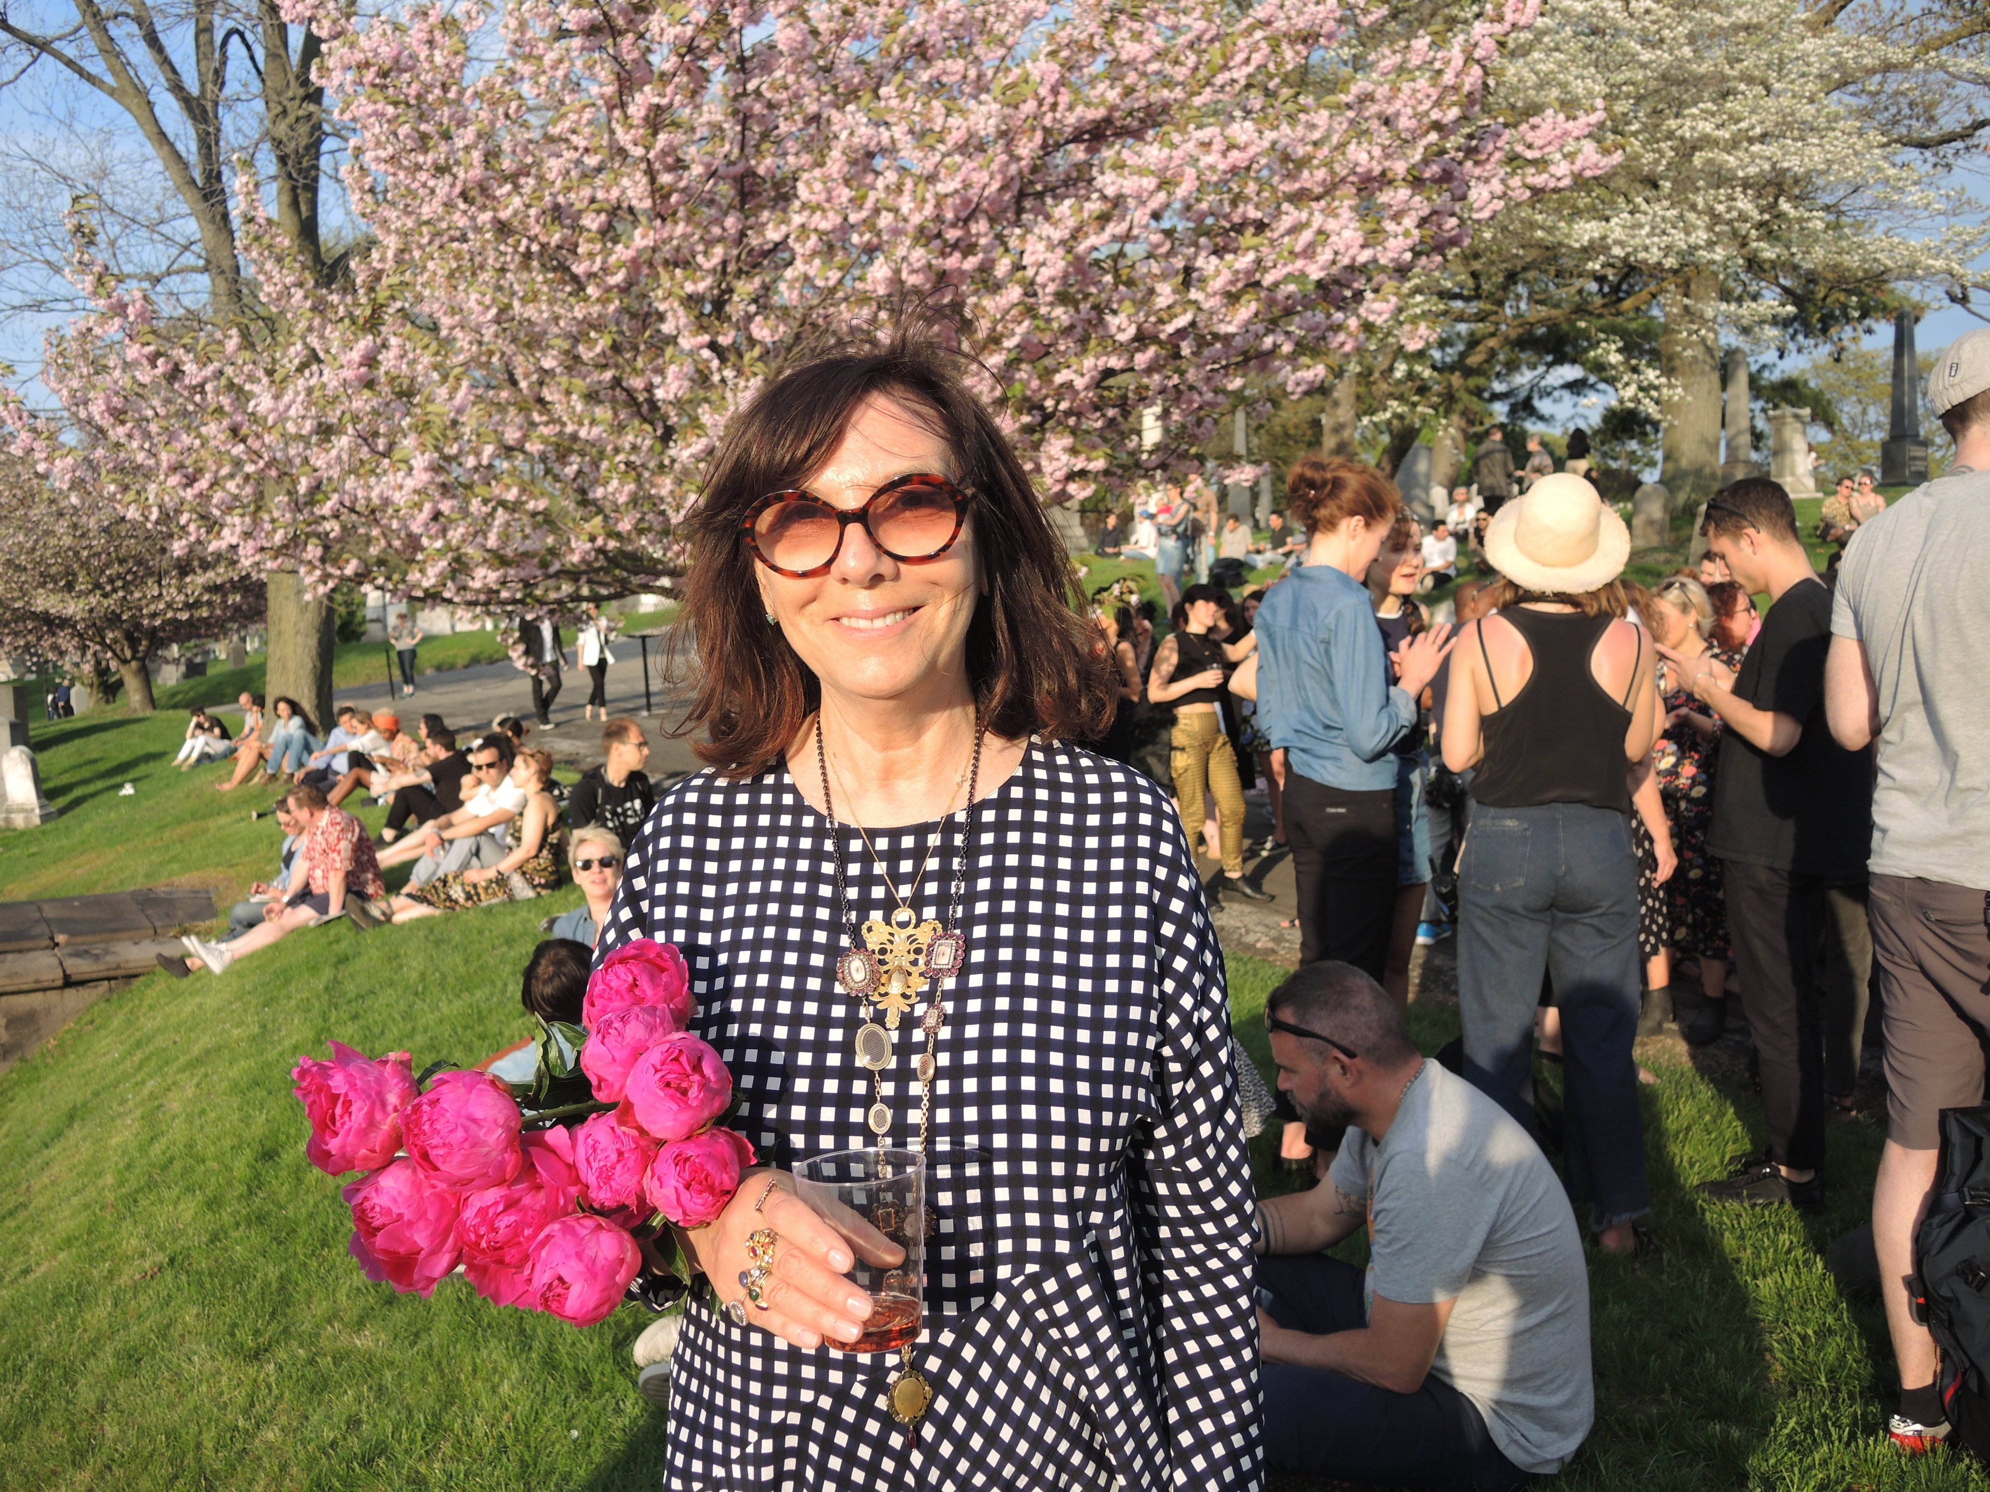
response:
<svg viewBox="0 0 1990 1492"><path fill-rule="evenodd" d="M1487 529L1496 613L1451 654L1445 764L1471 768L1459 855L1465 1074L1528 1132L1542 973L1562 1011L1566 1182L1602 1247L1650 1212L1638 1118L1638 861L1628 770L1662 724L1652 645L1626 621L1630 533L1558 471Z"/></svg>

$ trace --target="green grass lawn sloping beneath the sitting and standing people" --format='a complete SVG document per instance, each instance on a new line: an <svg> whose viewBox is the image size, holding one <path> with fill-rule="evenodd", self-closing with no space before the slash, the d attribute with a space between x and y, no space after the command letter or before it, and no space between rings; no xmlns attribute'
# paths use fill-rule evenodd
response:
<svg viewBox="0 0 1990 1492"><path fill-rule="evenodd" d="M181 879L233 895L275 830L181 776L169 718L42 732L62 820L0 836L4 895ZM123 780L133 798L115 798ZM338 1186L304 1162L289 1092L338 1036L476 1060L523 1034L537 921L577 901L358 933L332 925L225 979L151 975L0 1074L0 1488L577 1488L659 1484L665 1422L633 1391L647 1317L593 1331L368 1285ZM1268 1064L1284 971L1232 957L1238 1032ZM1455 1013L1415 1009L1435 1050ZM1566 1488L1990 1488L1962 1458L1881 1442L1875 1301L1825 1273L1859 1223L1881 1134L1833 1124L1821 1219L1703 1208L1690 1192L1759 1144L1759 1104L1684 1064L1644 1092L1658 1259L1590 1265L1598 1426ZM1258 1182L1280 1190L1274 1138ZM1343 1249L1359 1261L1361 1241Z"/></svg>

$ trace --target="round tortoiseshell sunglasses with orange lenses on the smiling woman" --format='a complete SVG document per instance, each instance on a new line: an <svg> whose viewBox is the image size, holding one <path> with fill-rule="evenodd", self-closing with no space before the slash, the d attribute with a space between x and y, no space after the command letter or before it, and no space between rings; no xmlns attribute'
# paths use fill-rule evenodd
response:
<svg viewBox="0 0 1990 1492"><path fill-rule="evenodd" d="M836 507L800 487L770 491L746 509L740 533L752 557L776 575L828 575L844 533L862 523L880 553L907 565L939 559L961 537L967 493L933 471L894 477L860 507Z"/></svg>

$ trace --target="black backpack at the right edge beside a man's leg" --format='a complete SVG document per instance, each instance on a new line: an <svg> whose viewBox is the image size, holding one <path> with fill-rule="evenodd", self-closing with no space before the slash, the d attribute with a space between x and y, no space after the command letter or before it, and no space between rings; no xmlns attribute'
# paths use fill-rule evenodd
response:
<svg viewBox="0 0 1990 1492"><path fill-rule="evenodd" d="M1990 1104L1942 1110L1942 1158L1914 1265L1914 1317L1942 1349L1936 1387L1948 1426L1990 1460Z"/></svg>

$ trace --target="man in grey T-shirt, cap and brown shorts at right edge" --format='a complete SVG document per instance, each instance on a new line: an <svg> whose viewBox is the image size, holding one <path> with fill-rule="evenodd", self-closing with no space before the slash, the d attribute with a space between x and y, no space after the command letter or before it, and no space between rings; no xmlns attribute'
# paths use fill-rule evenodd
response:
<svg viewBox="0 0 1990 1492"><path fill-rule="evenodd" d="M1956 460L1861 523L1839 565L1825 710L1839 744L1877 742L1873 955L1887 1028L1887 1148L1873 1186L1887 1329L1900 1369L1889 1434L1948 1434L1934 1341L1914 1321L1914 1225L1944 1108L1984 1102L1990 1040L1990 330L1946 346L1928 406Z"/></svg>

